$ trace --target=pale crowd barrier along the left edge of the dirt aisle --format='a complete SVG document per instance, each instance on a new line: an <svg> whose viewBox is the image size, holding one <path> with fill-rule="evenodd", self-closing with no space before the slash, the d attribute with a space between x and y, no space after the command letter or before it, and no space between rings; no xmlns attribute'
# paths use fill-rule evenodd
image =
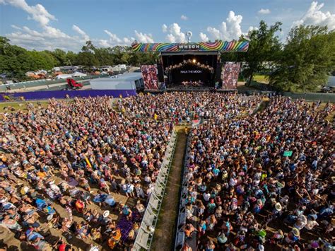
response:
<svg viewBox="0 0 335 251"><path fill-rule="evenodd" d="M160 206L163 202L165 187L170 173L172 157L175 153L177 143L177 133L171 134L170 143L167 145L165 156L155 182L155 188L150 196L146 211L139 227L139 232L136 235L133 250L150 250L155 232L155 226L160 213Z"/></svg>

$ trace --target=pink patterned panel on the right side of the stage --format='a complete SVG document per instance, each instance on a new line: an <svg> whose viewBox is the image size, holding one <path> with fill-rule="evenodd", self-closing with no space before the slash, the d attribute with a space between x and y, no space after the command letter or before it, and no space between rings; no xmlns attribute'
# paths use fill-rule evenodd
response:
<svg viewBox="0 0 335 251"><path fill-rule="evenodd" d="M233 90L237 88L238 74L240 73L240 63L226 62L222 66L221 79L224 90Z"/></svg>

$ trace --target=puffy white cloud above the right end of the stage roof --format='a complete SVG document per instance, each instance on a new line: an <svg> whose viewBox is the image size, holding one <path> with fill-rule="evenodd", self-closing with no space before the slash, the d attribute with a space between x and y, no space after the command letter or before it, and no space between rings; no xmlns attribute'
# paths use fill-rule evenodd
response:
<svg viewBox="0 0 335 251"><path fill-rule="evenodd" d="M240 35L245 34L241 29L242 19L241 15L235 15L234 11L229 11L228 18L221 23L220 27L208 26L207 32L214 40L237 40Z"/></svg>

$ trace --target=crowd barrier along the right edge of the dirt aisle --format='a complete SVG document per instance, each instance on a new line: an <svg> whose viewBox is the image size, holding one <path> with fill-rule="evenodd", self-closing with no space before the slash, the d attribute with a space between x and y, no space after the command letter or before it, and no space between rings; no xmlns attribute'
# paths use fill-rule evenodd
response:
<svg viewBox="0 0 335 251"><path fill-rule="evenodd" d="M183 227L186 223L186 201L188 195L189 180L187 180L187 174L189 169L187 168L188 154L189 154L189 142L191 141L191 134L187 137L186 153L184 157L184 171L182 173L182 187L180 189L180 205L178 210L177 229L175 235L175 250L182 250L185 241L185 233Z"/></svg>

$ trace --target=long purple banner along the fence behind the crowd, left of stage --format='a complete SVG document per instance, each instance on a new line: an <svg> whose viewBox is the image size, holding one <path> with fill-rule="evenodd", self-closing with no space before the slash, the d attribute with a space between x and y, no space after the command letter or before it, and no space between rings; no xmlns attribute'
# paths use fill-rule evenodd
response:
<svg viewBox="0 0 335 251"><path fill-rule="evenodd" d="M136 90L83 90L83 91L31 91L25 93L0 93L0 101L16 100L23 97L25 100L43 100L48 98L66 98L66 94L70 98L74 97L96 97L96 96L112 96L118 98L119 95L127 97L136 95Z"/></svg>

